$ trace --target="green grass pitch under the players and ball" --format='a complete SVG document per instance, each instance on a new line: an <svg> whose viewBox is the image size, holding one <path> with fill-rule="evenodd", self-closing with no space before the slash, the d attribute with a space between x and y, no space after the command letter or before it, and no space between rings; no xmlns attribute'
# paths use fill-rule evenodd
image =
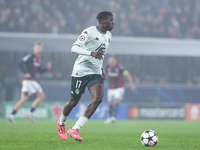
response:
<svg viewBox="0 0 200 150"><path fill-rule="evenodd" d="M68 120L66 129L75 120ZM158 144L144 147L140 136L145 130L158 134ZM16 120L15 124L0 119L0 150L200 150L200 122L128 120L105 125L103 121L90 120L81 129L83 142L68 136L60 139L56 120Z"/></svg>

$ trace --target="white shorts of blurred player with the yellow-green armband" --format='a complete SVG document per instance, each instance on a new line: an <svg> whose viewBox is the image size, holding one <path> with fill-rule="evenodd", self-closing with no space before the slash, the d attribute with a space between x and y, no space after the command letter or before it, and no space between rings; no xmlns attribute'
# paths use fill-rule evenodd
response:
<svg viewBox="0 0 200 150"><path fill-rule="evenodd" d="M108 89L107 93L108 102L114 99L123 100L123 96L124 96L124 88Z"/></svg>

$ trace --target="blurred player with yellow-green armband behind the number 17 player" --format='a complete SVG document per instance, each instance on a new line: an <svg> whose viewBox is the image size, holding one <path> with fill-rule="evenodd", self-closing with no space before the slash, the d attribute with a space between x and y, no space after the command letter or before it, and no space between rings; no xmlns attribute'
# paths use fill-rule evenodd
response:
<svg viewBox="0 0 200 150"><path fill-rule="evenodd" d="M124 95L124 77L128 79L131 91L134 92L136 88L130 73L117 62L117 59L114 56L108 58L106 75L109 78L109 88L107 93L109 118L105 123L109 124L116 121L119 103L122 101Z"/></svg>

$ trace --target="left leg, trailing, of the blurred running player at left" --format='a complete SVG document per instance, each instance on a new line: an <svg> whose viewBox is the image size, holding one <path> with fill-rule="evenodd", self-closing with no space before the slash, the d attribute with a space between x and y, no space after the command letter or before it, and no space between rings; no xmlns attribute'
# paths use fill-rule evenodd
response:
<svg viewBox="0 0 200 150"><path fill-rule="evenodd" d="M14 120L14 115L17 113L17 111L27 102L27 100L29 99L28 93L26 92L22 92L21 93L21 97L19 99L19 101L15 104L15 106L13 107L12 112L7 116L8 120L12 123L15 122Z"/></svg>

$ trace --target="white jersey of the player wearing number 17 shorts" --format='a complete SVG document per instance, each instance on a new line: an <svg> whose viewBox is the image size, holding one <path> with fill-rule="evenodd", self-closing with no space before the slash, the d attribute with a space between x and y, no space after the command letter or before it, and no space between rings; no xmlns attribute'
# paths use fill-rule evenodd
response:
<svg viewBox="0 0 200 150"><path fill-rule="evenodd" d="M106 53L112 34L107 31L102 33L96 26L91 26L81 33L74 45L78 45L86 51ZM103 56L104 58L104 56ZM79 55L75 61L72 76L82 77L89 74L102 74L103 59L92 56Z"/></svg>

